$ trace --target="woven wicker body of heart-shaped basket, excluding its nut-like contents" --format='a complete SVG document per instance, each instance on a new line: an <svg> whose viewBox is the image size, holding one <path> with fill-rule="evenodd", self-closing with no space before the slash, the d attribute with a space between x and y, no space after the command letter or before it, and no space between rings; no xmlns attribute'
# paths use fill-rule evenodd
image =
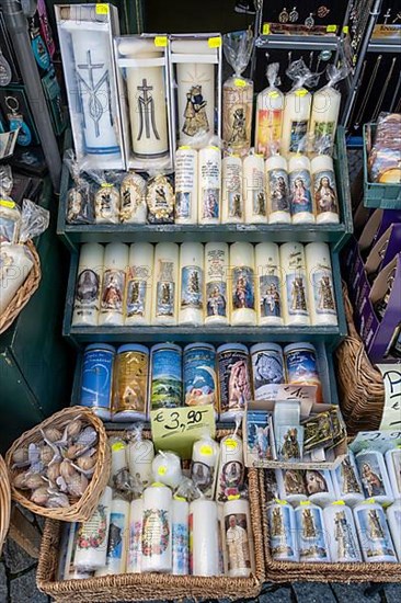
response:
<svg viewBox="0 0 401 603"><path fill-rule="evenodd" d="M85 423L92 425L98 432L98 463L95 465L92 479L80 500L72 503L68 508L45 509L44 507L34 504L25 496L24 491L16 490L16 488L13 487L13 479L21 471L21 469L12 469L13 453L16 448L26 446L27 444L42 442L43 437L39 431L41 429L45 430L51 426L62 430L69 421L77 418L80 418ZM15 440L5 455L5 463L9 470L11 496L14 501L19 502L37 515L43 515L53 520L60 520L65 522L85 521L92 515L94 509L96 508L98 501L108 480L111 454L106 431L102 421L91 410L83 407L65 408L43 421L43 423L34 426L30 431L26 431L18 440Z"/></svg>

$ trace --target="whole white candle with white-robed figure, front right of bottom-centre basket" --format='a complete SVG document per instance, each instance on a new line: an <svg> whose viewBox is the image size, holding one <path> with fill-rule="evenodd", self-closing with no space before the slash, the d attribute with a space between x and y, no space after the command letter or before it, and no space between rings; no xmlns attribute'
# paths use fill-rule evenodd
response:
<svg viewBox="0 0 401 603"><path fill-rule="evenodd" d="M225 502L225 544L228 576L248 578L255 571L251 513L248 500Z"/></svg>

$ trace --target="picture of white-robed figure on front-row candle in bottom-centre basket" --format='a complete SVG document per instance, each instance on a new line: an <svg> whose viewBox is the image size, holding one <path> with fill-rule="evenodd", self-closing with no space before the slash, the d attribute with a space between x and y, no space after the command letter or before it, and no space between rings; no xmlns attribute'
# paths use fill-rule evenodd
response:
<svg viewBox="0 0 401 603"><path fill-rule="evenodd" d="M250 538L245 513L233 513L225 517L226 554L228 571L251 569Z"/></svg>

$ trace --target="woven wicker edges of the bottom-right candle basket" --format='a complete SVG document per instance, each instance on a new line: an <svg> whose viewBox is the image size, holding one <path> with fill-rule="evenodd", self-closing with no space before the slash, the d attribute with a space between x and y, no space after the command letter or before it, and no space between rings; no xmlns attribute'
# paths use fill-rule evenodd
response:
<svg viewBox="0 0 401 603"><path fill-rule="evenodd" d="M260 470L265 576L271 582L401 582L400 564L305 564L275 561L268 542L267 503L263 469Z"/></svg>

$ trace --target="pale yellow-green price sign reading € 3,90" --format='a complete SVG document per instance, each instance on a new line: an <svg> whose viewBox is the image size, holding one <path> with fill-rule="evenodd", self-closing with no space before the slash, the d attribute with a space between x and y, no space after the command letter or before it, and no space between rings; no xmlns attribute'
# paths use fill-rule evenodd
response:
<svg viewBox="0 0 401 603"><path fill-rule="evenodd" d="M216 433L211 405L152 410L150 422L156 448L173 451L182 458L191 458L194 442Z"/></svg>

